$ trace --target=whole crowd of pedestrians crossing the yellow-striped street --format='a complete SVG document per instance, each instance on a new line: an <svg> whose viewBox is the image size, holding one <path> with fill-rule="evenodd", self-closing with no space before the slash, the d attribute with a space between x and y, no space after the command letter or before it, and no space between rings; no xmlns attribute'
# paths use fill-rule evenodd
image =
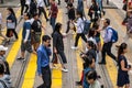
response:
<svg viewBox="0 0 132 88"><path fill-rule="evenodd" d="M52 68L57 68L55 64L61 62L61 70L68 73L66 67L67 57L65 54L64 41L63 38L68 36L69 31L74 30L76 37L74 46L72 50L76 51L78 48L79 37L84 40L86 44L86 51L81 52L80 57L82 58L82 74L81 79L77 81L77 85L81 85L82 88L101 88L101 85L98 80L98 72L96 66L106 65L106 55L109 55L113 58L119 66L117 86L118 88L130 88L130 79L128 72L131 70L131 66L127 62L124 54L128 52L128 44L121 43L118 45L118 56L111 53L112 44L118 41L118 36L114 36L114 29L110 25L111 20L105 19L103 26L100 29L99 22L101 18L106 14L102 0L91 0L91 4L88 6L86 0L86 6L88 8L87 15L90 18L87 19L85 14L84 0L78 0L77 9L74 7L74 0L65 0L67 3L67 28L65 33L62 33L63 23L56 22L58 15L58 6L61 6L61 0L56 3L55 0L20 0L21 2L21 18L24 19L23 30L22 30L22 40L21 40L21 56L18 61L25 61L25 51L29 53L34 53L37 56L37 73L38 76L43 79L43 84L37 88L51 88L52 87L52 72L50 62L52 62ZM109 0L107 0L109 4ZM46 13L48 10L50 13ZM2 29L2 15L0 13L0 36L6 40L4 46L0 45L0 88L10 88L10 70L8 62L4 58L6 51L8 47L6 45L10 44L11 37L14 35L18 40L16 29L16 16L12 8L8 8L7 16L7 34L6 36L1 33ZM52 35L42 35L42 29L45 30L45 26L41 22L41 14L44 14L45 21L48 22L52 26ZM47 15L48 14L48 15ZM125 24L127 24L127 35L132 33L132 11L129 11L127 14ZM63 16L63 15L62 15ZM86 26L87 20L90 22L87 26L87 34L84 33L84 28ZM46 30L45 30L46 31ZM101 31L105 32L102 35L103 44L101 47L100 36ZM131 34L130 34L131 35ZM53 44L51 44L51 40ZM42 41L42 44L41 44ZM51 50L53 45L53 51ZM32 47L33 46L33 47ZM101 62L99 61L99 54L101 53ZM50 56L53 54L52 61ZM8 81L4 80L4 76L9 77Z"/></svg>

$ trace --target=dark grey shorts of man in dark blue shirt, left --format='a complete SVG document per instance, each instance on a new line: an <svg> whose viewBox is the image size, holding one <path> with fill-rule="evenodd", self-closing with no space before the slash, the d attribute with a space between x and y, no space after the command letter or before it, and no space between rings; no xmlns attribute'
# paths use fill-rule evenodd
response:
<svg viewBox="0 0 132 88"><path fill-rule="evenodd" d="M31 45L31 41L28 41L26 43L23 43L23 40L21 42L21 52L25 52L28 51L29 53L32 53L32 45Z"/></svg>

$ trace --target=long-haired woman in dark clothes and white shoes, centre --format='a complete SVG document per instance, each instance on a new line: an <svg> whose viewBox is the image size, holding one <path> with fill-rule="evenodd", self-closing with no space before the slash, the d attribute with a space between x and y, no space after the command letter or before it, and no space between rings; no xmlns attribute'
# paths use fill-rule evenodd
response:
<svg viewBox="0 0 132 88"><path fill-rule="evenodd" d="M54 66L54 59L61 56L61 64L62 64L62 70L67 73L68 69L65 67L65 64L67 64L67 59L64 53L64 42L63 42L63 34L61 33L62 24L56 23L55 30L52 34L53 36L53 66Z"/></svg>

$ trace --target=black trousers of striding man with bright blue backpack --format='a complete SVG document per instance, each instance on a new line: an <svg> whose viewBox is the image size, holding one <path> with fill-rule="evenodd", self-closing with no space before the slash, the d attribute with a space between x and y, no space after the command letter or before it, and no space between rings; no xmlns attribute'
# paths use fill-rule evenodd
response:
<svg viewBox="0 0 132 88"><path fill-rule="evenodd" d="M112 42L108 42L103 44L102 51L101 51L101 54L102 54L101 63L106 63L106 53L114 61L117 59L117 57L111 53L111 47L112 47Z"/></svg>

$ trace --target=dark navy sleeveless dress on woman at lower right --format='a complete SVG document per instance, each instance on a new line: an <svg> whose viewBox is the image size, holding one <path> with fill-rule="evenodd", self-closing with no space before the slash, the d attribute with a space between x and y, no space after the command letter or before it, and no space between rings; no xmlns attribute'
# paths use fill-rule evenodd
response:
<svg viewBox="0 0 132 88"><path fill-rule="evenodd" d="M118 69L118 81L117 81L117 85L119 87L123 87L124 85L130 84L128 72L124 72L121 69L121 61L124 61L124 67L125 68L128 67L128 62L127 62L125 56L120 55L119 61L118 61L119 69Z"/></svg>

